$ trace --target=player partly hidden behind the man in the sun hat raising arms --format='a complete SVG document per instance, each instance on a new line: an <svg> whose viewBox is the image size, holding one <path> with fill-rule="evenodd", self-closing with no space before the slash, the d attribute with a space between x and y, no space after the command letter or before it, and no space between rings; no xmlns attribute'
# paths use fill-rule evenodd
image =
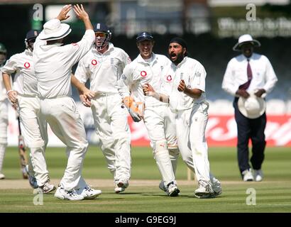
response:
<svg viewBox="0 0 291 227"><path fill-rule="evenodd" d="M29 174L31 186L34 187L34 175L38 187L43 193L55 189L50 184L45 148L48 144L47 123L40 114L40 99L38 97L37 80L33 67L33 45L39 31L31 30L26 34L26 50L10 57L4 65L3 80L9 100L16 106L21 120L22 134L25 144L31 150L33 173ZM11 86L11 74L16 73Z"/></svg>

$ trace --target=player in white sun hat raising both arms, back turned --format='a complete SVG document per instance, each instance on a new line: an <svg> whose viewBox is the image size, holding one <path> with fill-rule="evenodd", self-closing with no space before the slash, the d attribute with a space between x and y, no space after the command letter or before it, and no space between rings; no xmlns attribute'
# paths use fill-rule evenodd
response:
<svg viewBox="0 0 291 227"><path fill-rule="evenodd" d="M67 145L67 167L55 197L94 199L101 191L91 189L82 178L88 142L84 124L71 97L71 72L72 66L91 49L95 36L87 12L82 5L75 5L74 11L84 22L86 32L78 43L62 45L63 38L71 32L71 28L60 21L69 17L67 13L71 9L72 5L64 6L57 18L43 25L43 31L35 41L33 63L38 80L40 112L53 133Z"/></svg>

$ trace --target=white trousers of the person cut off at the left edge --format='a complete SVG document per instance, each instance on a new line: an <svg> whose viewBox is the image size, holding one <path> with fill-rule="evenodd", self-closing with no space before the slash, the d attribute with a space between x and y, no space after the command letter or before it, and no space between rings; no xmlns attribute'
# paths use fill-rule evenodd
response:
<svg viewBox="0 0 291 227"><path fill-rule="evenodd" d="M2 171L7 147L8 100L0 101L0 173Z"/></svg>

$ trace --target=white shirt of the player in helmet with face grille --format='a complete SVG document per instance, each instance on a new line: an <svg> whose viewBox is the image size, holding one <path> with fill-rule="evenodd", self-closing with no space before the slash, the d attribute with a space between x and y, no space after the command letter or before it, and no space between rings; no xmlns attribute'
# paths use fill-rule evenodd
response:
<svg viewBox="0 0 291 227"><path fill-rule="evenodd" d="M117 81L130 62L128 54L121 48L114 47L112 43L109 43L109 49L103 54L93 45L79 61L75 77L83 83L89 79L90 90L94 92L118 94Z"/></svg>

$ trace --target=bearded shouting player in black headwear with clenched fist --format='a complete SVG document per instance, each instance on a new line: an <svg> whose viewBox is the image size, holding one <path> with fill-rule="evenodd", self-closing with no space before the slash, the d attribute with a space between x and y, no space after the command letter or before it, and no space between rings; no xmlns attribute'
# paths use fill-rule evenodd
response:
<svg viewBox="0 0 291 227"><path fill-rule="evenodd" d="M205 138L209 104L205 94L206 72L203 65L187 57L187 44L182 38L172 38L168 48L171 65L163 75L172 80L163 83L165 94L158 94L151 84L143 91L161 101L169 102L177 114L176 133L182 159L197 175L199 187L194 191L197 198L209 198L221 194L221 184L209 172L208 148Z"/></svg>

